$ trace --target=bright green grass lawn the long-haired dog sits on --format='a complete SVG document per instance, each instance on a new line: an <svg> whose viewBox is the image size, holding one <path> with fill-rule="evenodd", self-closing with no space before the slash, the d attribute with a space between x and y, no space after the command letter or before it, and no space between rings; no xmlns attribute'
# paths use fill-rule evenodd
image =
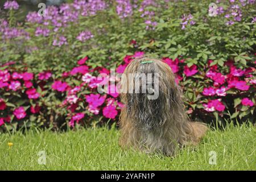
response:
<svg viewBox="0 0 256 182"><path fill-rule="evenodd" d="M119 131L105 128L66 133L30 130L0 134L0 170L255 170L256 127L229 125L210 130L195 150L184 148L175 158L123 151ZM9 147L8 142L13 146ZM38 164L39 151L46 165ZM209 158L216 152L216 164ZM210 154L210 155L209 155Z"/></svg>

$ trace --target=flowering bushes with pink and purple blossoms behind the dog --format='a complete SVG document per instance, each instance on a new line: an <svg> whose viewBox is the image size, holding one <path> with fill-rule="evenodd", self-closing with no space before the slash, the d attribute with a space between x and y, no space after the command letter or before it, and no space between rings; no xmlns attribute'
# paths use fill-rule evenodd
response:
<svg viewBox="0 0 256 182"><path fill-rule="evenodd" d="M31 12L25 22L16 22L17 6L7 4L9 18L0 22L2 129L9 122L59 128L117 121L118 94L98 95L95 77L82 77L122 73L144 52L170 65L192 119L255 122L255 1L216 2L216 12L209 4L74 1L47 7L46 16Z"/></svg>

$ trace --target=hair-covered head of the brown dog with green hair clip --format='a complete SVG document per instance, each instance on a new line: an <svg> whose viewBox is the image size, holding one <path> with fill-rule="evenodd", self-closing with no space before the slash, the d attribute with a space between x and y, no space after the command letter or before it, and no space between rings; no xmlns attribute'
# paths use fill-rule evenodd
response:
<svg viewBox="0 0 256 182"><path fill-rule="evenodd" d="M163 126L182 103L174 73L158 59L131 61L121 78L121 90L127 114L143 130Z"/></svg>

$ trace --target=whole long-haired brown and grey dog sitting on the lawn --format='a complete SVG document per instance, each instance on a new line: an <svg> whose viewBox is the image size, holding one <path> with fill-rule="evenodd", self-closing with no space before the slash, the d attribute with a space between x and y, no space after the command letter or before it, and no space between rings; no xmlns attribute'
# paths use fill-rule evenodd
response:
<svg viewBox="0 0 256 182"><path fill-rule="evenodd" d="M148 93L121 93L121 101L125 107L119 119L119 145L133 146L147 153L162 152L170 156L175 155L181 146L198 143L207 126L189 122L182 94L171 68L159 59L143 57L131 61L123 73L126 79L121 78L121 88L132 88L135 91L134 78L130 78L129 73L158 73L158 98L149 100ZM147 84L154 85L154 80Z"/></svg>

